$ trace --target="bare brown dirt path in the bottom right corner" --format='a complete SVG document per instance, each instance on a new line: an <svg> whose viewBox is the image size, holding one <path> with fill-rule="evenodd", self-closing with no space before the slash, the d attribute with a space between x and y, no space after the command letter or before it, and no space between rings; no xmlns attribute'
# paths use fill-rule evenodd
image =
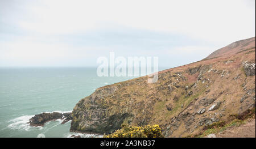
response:
<svg viewBox="0 0 256 149"><path fill-rule="evenodd" d="M255 138L255 119L239 127L230 127L216 135L217 138Z"/></svg>

